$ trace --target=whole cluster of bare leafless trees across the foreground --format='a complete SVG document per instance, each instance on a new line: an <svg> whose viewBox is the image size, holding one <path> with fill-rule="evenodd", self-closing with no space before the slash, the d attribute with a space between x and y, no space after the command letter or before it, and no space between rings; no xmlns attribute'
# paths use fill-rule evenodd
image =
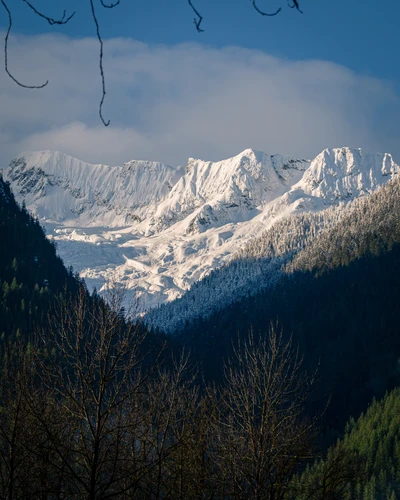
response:
<svg viewBox="0 0 400 500"><path fill-rule="evenodd" d="M60 296L34 348L4 361L2 498L290 498L316 424L291 339L251 334L222 388L203 391L188 356L163 367L149 355L123 303L116 288L106 302L84 287ZM343 486L348 461L329 464L322 486L299 483L310 500Z"/></svg>

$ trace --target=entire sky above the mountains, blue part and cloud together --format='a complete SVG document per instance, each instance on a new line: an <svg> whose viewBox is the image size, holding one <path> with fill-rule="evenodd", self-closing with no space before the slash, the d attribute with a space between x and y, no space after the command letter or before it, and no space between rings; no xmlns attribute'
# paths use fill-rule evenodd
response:
<svg viewBox="0 0 400 500"><path fill-rule="evenodd" d="M201 34L185 0L121 0L111 11L97 3L108 135L96 112L89 2L36 0L55 18L64 5L77 11L61 27L50 27L22 1L8 3L11 69L28 83L49 78L53 87L39 95L11 88L0 75L0 99L14 106L7 121L0 116L6 156L25 147L57 148L88 161L182 163L186 156L217 159L249 146L311 157L324 147L351 145L390 150L400 161L395 0L300 0L303 15L286 0L258 0L265 10L282 6L272 18L258 15L250 0L194 0L204 17Z"/></svg>

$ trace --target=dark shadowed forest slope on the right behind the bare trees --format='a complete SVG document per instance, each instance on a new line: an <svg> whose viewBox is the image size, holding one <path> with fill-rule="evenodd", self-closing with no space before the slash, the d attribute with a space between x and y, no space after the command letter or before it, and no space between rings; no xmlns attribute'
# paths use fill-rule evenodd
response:
<svg viewBox="0 0 400 500"><path fill-rule="evenodd" d="M340 431L349 416L400 383L399 276L399 246L318 278L296 272L272 291L197 321L185 340L207 378L215 379L232 340L249 329L264 335L278 320L298 343L305 365L319 364L315 404L321 407L330 399L325 419Z"/></svg>

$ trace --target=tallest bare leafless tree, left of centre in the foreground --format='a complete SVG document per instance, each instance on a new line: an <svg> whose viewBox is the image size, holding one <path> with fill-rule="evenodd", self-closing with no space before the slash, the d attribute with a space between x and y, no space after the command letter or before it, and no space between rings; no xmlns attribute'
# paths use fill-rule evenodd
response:
<svg viewBox="0 0 400 500"><path fill-rule="evenodd" d="M140 397L151 370L144 370L145 333L121 316L123 291L109 300L91 299L82 288L75 298L60 298L41 335L38 376L58 410L56 429L36 414L65 469L67 495L113 498L128 493L121 471L132 423L127 415ZM140 477L140 467L135 481Z"/></svg>

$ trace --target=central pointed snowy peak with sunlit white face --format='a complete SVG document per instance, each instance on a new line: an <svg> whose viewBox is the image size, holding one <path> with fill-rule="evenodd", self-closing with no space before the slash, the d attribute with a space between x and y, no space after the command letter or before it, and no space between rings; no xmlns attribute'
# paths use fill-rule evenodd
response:
<svg viewBox="0 0 400 500"><path fill-rule="evenodd" d="M190 158L186 174L159 205L150 225L159 231L192 215L185 227L191 234L247 219L249 211L283 194L308 165L252 149L214 163Z"/></svg>

